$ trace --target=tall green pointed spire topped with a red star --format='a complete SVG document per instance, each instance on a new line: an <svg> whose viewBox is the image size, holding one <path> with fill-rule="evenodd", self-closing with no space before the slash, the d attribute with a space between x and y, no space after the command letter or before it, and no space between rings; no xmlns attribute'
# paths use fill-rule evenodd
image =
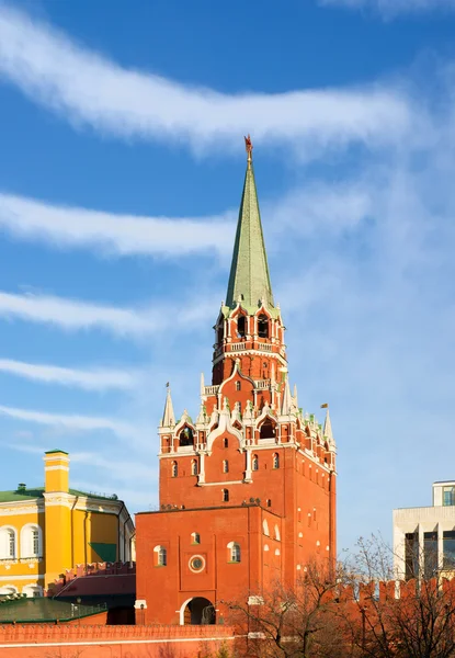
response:
<svg viewBox="0 0 455 658"><path fill-rule="evenodd" d="M250 136L244 138L244 143L248 152L248 167L237 224L226 306L232 308L241 298L242 306L247 308L258 308L260 299L263 299L266 306L273 307L268 257L252 167Z"/></svg>

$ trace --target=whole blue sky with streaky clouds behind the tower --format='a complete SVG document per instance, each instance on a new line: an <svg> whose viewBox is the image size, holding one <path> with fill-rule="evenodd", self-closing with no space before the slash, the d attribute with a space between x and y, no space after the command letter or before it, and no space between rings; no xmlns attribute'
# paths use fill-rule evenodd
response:
<svg viewBox="0 0 455 658"><path fill-rule="evenodd" d="M251 133L339 543L454 478L455 2L0 0L1 489L157 504L166 382L198 408ZM319 412L321 417L322 413Z"/></svg>

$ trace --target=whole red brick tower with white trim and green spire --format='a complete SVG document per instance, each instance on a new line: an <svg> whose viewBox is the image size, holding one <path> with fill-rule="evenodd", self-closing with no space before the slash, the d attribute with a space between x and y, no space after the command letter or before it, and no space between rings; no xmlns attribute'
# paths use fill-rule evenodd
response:
<svg viewBox="0 0 455 658"><path fill-rule="evenodd" d="M259 595L276 578L292 585L309 559L335 556L329 411L322 429L299 409L295 387L291 393L249 138L246 145L212 385L202 376L195 421L186 411L175 419L168 389L160 511L136 519L137 608L149 623L214 621L223 613L218 601Z"/></svg>

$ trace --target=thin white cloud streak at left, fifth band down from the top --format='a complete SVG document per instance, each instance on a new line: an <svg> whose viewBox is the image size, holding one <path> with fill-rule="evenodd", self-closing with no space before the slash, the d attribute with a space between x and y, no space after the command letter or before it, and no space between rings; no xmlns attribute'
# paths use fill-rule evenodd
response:
<svg viewBox="0 0 455 658"><path fill-rule="evenodd" d="M78 416L65 413L48 413L31 409L0 406L0 415L15 418L25 422L33 422L49 427L59 427L67 430L90 432L93 430L109 430L121 436L135 436L138 429L129 423L112 418L95 416Z"/></svg>

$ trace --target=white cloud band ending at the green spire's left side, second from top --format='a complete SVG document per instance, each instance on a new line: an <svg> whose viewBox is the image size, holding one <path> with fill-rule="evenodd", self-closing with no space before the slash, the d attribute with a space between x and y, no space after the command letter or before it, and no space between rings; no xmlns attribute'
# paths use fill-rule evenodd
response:
<svg viewBox="0 0 455 658"><path fill-rule="evenodd" d="M107 253L181 257L224 252L234 239L234 214L205 218L138 217L57 206L0 193L0 228L13 237Z"/></svg>

